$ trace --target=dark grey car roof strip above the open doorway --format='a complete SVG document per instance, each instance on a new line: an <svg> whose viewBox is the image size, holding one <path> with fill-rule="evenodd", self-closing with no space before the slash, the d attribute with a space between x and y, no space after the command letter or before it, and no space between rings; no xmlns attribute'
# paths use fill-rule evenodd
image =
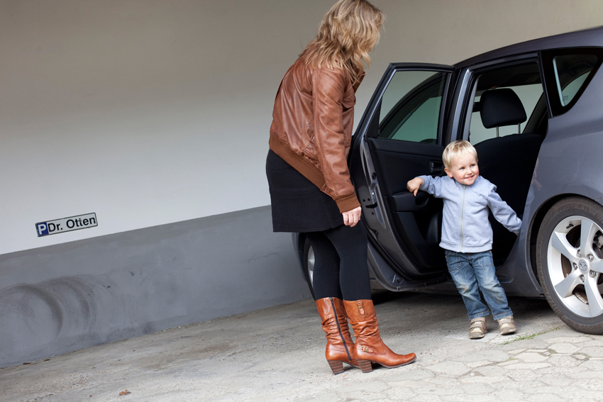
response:
<svg viewBox="0 0 603 402"><path fill-rule="evenodd" d="M577 47L601 47L603 48L603 26L575 30L573 32L561 33L560 35L548 36L516 43L496 50L482 53L470 59L463 60L454 65L455 68L469 67L487 60L499 59L509 55L536 52L537 50Z"/></svg>

